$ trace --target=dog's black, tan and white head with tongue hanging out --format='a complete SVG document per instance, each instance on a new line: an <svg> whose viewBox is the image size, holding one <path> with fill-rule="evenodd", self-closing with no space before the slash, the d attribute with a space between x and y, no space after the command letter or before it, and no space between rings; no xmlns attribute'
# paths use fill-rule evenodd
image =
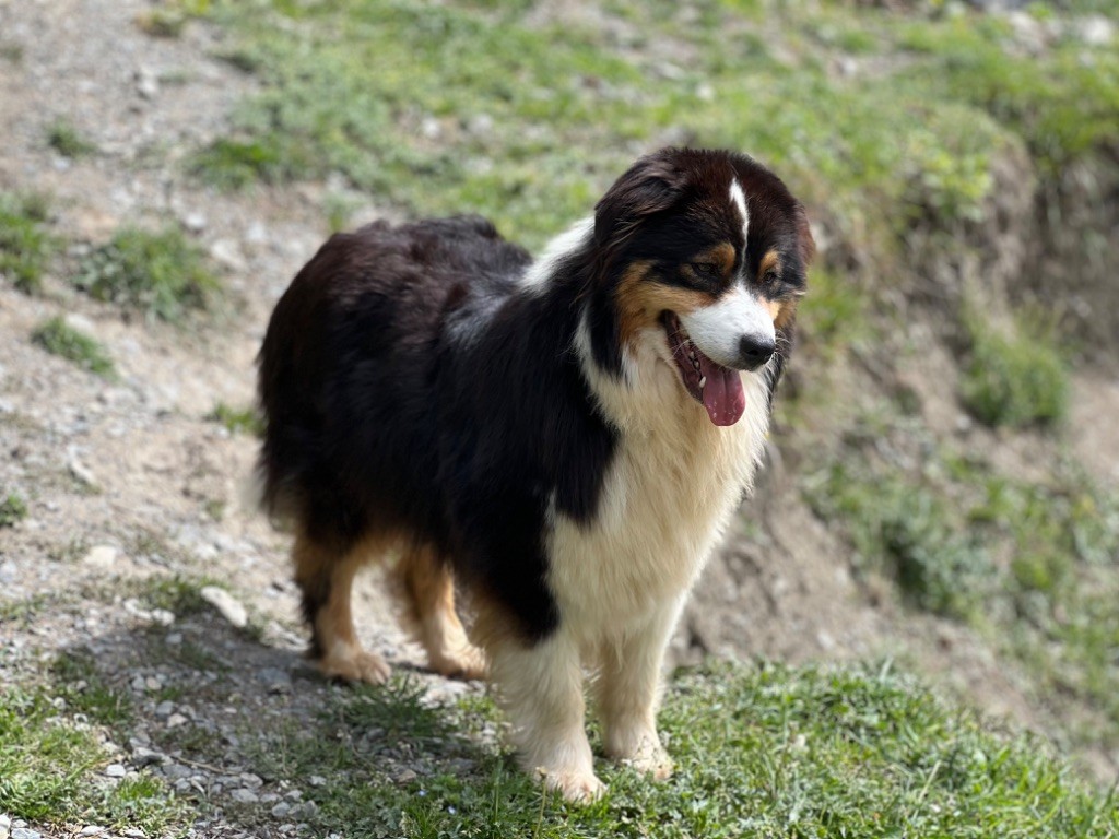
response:
<svg viewBox="0 0 1119 839"><path fill-rule="evenodd" d="M593 239L594 294L612 298L620 345L651 343L713 423L737 422L740 373L784 349L806 290L800 202L749 157L664 149L599 201Z"/></svg>

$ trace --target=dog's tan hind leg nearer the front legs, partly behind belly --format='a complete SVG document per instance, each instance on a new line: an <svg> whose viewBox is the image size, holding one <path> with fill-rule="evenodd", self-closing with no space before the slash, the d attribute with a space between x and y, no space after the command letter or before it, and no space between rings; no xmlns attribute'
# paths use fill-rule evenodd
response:
<svg viewBox="0 0 1119 839"><path fill-rule="evenodd" d="M443 676L480 679L486 654L467 639L454 611L454 578L426 547L412 547L397 566L416 635L427 651L431 669Z"/></svg>

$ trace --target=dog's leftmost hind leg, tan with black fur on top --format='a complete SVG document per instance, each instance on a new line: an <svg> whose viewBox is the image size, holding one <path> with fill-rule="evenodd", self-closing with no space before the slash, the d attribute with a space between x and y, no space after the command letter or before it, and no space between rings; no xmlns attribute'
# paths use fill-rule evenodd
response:
<svg viewBox="0 0 1119 839"><path fill-rule="evenodd" d="M303 614L311 624L311 654L319 669L330 678L379 685L388 678L388 664L361 649L350 613L354 575L368 556L366 545L339 556L303 535L295 537L292 548Z"/></svg>

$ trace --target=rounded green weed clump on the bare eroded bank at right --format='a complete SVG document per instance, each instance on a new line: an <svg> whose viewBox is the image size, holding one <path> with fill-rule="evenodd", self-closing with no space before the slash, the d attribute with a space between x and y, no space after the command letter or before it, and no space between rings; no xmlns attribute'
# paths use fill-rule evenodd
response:
<svg viewBox="0 0 1119 839"><path fill-rule="evenodd" d="M1054 331L1019 319L1008 327L966 319L970 360L960 395L990 426L1053 425L1065 414L1070 377Z"/></svg>

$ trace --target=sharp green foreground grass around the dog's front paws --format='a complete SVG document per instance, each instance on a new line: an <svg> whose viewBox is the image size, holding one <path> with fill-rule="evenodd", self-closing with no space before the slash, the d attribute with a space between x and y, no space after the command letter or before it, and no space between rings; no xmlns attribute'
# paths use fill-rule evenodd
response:
<svg viewBox="0 0 1119 839"><path fill-rule="evenodd" d="M888 666L761 664L685 673L660 715L665 783L596 761L610 791L589 807L545 794L508 753L470 736L488 701L431 708L408 684L338 695L318 726L262 748L271 777L309 788L313 832L351 837L1109 837L1112 796L1041 743L991 734ZM373 729L374 733L367 736ZM397 782L389 753L419 755Z"/></svg>

